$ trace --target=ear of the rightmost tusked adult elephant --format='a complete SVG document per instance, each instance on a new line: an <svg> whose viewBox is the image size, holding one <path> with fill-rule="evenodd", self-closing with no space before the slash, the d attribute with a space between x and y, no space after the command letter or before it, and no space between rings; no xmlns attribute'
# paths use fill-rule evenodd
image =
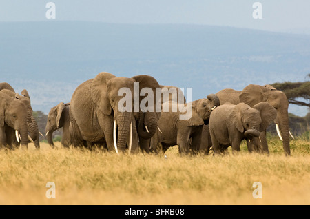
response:
<svg viewBox="0 0 310 219"><path fill-rule="evenodd" d="M269 89L265 88L264 86L249 84L239 95L240 102L243 102L249 106L254 106L259 102L266 101L267 97L265 93L268 90Z"/></svg>

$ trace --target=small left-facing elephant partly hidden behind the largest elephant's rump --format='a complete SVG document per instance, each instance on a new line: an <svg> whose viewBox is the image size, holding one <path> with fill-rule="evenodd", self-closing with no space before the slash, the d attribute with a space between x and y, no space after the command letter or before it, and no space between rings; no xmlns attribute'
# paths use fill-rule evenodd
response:
<svg viewBox="0 0 310 219"><path fill-rule="evenodd" d="M52 134L59 128L63 128L63 136L61 137L61 145L69 147L70 142L70 103L64 104L63 102L59 103L57 106L54 106L50 109L48 113L48 122L45 126L45 136L48 140L48 144L54 148L54 142L52 140Z"/></svg>

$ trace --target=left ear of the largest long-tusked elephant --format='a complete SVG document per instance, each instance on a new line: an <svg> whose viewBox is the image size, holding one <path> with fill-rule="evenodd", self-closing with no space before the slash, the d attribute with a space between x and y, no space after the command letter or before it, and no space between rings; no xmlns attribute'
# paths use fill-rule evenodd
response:
<svg viewBox="0 0 310 219"><path fill-rule="evenodd" d="M105 115L110 115L112 113L112 106L107 97L107 82L113 77L115 77L115 75L112 75L111 73L99 73L92 80L90 88L92 101Z"/></svg>

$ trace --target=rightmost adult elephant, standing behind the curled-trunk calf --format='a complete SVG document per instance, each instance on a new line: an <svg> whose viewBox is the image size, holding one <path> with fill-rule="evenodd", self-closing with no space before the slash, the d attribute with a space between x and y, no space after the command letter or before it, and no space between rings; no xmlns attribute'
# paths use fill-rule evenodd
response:
<svg viewBox="0 0 310 219"><path fill-rule="evenodd" d="M249 84L242 91L236 91L234 89L224 89L216 93L218 98L220 98L220 104L224 104L225 102L230 102L232 104L238 104L240 102L244 102L249 106L254 106L259 102L268 102L276 108L277 117L273 121L279 125L280 131L283 138L283 149L285 151L285 155L291 155L291 150L289 146L289 102L285 93L282 91L276 90L270 85L260 86L255 84ZM208 153L209 148L212 146L209 141L210 135L208 132L208 128L205 127L203 130L203 139L202 146L200 149ZM259 151L262 153L269 153L267 139L266 139L266 130L260 133L260 141L257 142L259 146Z"/></svg>

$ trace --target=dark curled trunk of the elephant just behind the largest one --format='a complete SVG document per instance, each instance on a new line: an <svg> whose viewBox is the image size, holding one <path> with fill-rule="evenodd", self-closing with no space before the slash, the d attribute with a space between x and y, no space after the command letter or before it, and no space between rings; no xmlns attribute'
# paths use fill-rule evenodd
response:
<svg viewBox="0 0 310 219"><path fill-rule="evenodd" d="M155 134L157 126L158 122L156 120L156 115L152 116L152 113L149 112L141 113L138 125L139 137L142 137L143 139L150 139Z"/></svg>

